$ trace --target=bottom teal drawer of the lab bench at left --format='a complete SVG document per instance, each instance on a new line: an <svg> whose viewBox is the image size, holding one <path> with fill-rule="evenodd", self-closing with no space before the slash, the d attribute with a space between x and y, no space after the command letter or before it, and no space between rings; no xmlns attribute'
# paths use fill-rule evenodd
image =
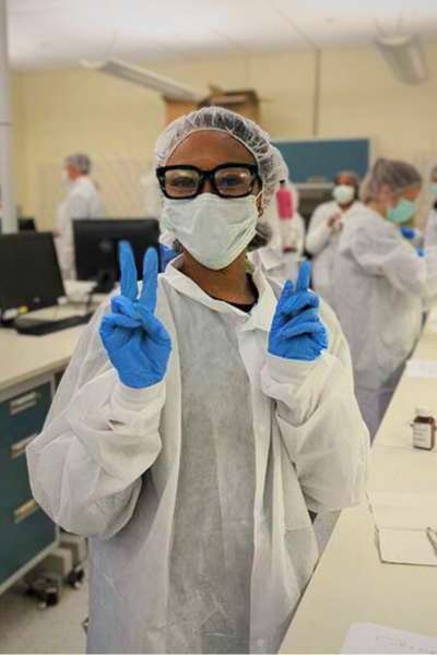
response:
<svg viewBox="0 0 437 655"><path fill-rule="evenodd" d="M56 526L32 497L0 510L0 584L56 540Z"/></svg>

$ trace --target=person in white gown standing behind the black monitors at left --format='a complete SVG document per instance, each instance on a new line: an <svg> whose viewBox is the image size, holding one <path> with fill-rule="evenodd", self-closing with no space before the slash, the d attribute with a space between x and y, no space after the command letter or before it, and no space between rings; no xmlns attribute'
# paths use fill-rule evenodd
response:
<svg viewBox="0 0 437 655"><path fill-rule="evenodd" d="M64 159L63 179L68 191L57 211L55 235L59 263L66 279L75 278L72 221L105 216L101 195L90 172L91 159L87 155L76 153Z"/></svg>

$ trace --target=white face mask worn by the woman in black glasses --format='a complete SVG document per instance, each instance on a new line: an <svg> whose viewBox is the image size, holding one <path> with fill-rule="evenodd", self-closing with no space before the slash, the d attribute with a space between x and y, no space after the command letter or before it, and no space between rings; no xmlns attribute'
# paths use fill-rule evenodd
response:
<svg viewBox="0 0 437 655"><path fill-rule="evenodd" d="M220 198L213 193L189 200L166 198L162 221L198 262L218 271L232 264L252 240L257 199Z"/></svg>

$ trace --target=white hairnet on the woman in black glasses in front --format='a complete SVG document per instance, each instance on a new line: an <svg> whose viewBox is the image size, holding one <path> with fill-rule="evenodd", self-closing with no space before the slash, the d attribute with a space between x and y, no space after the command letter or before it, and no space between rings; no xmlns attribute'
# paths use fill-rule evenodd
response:
<svg viewBox="0 0 437 655"><path fill-rule="evenodd" d="M282 179L275 148L269 134L257 123L223 107L203 107L172 122L156 141L157 165L164 166L176 146L189 134L200 130L226 132L253 155L262 181L262 205L267 206L275 186Z"/></svg>

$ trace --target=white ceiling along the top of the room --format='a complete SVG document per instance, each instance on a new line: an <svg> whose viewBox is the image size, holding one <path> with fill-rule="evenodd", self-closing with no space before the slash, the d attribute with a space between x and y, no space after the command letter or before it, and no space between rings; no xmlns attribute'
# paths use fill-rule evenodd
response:
<svg viewBox="0 0 437 655"><path fill-rule="evenodd" d="M437 35L437 0L9 0L13 67L251 56Z"/></svg>

